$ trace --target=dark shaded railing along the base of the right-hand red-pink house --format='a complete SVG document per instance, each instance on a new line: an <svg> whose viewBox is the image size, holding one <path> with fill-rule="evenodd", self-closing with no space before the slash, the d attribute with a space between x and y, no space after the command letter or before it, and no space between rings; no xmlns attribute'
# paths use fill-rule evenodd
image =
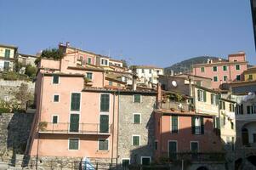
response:
<svg viewBox="0 0 256 170"><path fill-rule="evenodd" d="M162 152L161 161L225 161L223 152Z"/></svg>

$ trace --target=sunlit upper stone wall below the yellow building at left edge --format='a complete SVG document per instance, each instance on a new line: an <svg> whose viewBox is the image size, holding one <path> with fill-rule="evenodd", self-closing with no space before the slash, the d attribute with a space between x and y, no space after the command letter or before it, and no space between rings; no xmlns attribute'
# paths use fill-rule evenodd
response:
<svg viewBox="0 0 256 170"><path fill-rule="evenodd" d="M14 98L14 92L16 92L21 83L26 83L28 85L31 94L34 94L35 83L26 81L5 81L0 79L0 99L9 100Z"/></svg>

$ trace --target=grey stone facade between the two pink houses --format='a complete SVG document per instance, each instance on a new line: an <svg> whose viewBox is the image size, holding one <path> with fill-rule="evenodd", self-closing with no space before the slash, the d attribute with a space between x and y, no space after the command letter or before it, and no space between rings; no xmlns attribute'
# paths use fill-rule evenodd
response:
<svg viewBox="0 0 256 170"><path fill-rule="evenodd" d="M130 163L140 163L141 156L153 156L154 122L152 112L156 96L141 94L141 103L133 102L133 94L120 95L118 163L129 158ZM140 113L140 124L133 123L133 113ZM140 135L140 145L133 146L133 135Z"/></svg>

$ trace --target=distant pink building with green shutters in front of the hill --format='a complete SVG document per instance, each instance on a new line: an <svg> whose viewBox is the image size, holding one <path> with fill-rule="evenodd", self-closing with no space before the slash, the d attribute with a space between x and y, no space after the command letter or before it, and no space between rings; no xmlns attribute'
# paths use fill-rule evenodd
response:
<svg viewBox="0 0 256 170"><path fill-rule="evenodd" d="M243 71L247 70L246 54L229 54L228 60L208 60L206 64L193 65L192 74L212 78L212 88L219 88L224 82L244 80Z"/></svg>

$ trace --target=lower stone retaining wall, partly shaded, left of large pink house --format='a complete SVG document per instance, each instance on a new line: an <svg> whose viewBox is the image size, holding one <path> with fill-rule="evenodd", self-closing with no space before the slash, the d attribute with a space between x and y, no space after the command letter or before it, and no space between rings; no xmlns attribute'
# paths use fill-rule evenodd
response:
<svg viewBox="0 0 256 170"><path fill-rule="evenodd" d="M0 114L0 161L24 154L34 114Z"/></svg>

